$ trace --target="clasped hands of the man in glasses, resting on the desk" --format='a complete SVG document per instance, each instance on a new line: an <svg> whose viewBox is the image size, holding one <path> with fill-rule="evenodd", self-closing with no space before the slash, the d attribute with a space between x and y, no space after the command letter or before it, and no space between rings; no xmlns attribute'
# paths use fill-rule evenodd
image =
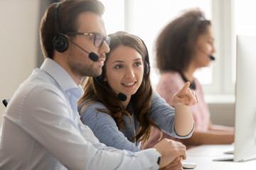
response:
<svg viewBox="0 0 256 170"><path fill-rule="evenodd" d="M161 154L160 168L167 165L174 166L171 162L174 162L177 157L183 160L186 159L186 146L181 142L164 139L154 145L153 148Z"/></svg>

